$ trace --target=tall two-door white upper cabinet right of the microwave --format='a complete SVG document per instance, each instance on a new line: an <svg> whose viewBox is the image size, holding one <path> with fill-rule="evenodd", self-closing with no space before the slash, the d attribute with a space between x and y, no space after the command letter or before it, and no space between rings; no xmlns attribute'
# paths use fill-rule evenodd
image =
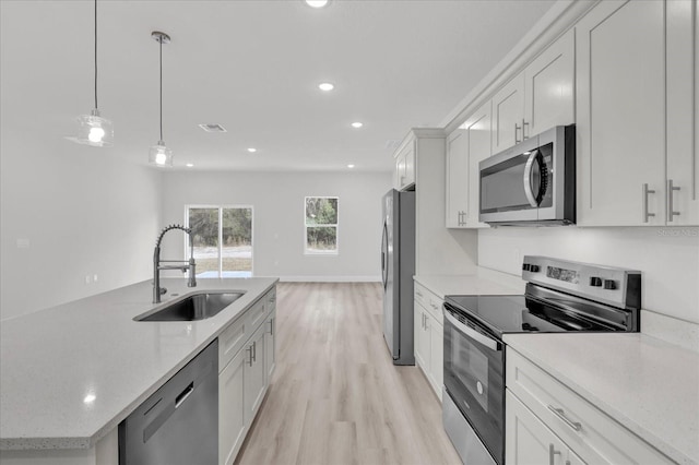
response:
<svg viewBox="0 0 699 465"><path fill-rule="evenodd" d="M696 4L605 1L576 26L579 225L699 223Z"/></svg>

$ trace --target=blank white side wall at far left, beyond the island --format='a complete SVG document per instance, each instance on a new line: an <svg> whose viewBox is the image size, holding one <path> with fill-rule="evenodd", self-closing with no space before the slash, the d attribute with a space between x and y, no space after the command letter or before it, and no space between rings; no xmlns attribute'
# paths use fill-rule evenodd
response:
<svg viewBox="0 0 699 465"><path fill-rule="evenodd" d="M157 171L116 147L16 130L2 130L0 155L0 319L151 276Z"/></svg>

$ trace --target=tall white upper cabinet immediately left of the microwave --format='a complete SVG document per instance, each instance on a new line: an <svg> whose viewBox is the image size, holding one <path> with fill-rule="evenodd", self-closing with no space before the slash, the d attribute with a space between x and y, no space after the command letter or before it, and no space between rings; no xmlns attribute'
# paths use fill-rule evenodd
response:
<svg viewBox="0 0 699 465"><path fill-rule="evenodd" d="M478 163L491 154L491 103L486 102L447 139L447 227L487 227L478 222Z"/></svg>

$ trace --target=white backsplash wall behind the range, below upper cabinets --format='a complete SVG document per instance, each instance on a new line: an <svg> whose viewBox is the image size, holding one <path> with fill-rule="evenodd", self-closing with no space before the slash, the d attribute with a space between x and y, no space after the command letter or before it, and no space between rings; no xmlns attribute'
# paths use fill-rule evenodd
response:
<svg viewBox="0 0 699 465"><path fill-rule="evenodd" d="M520 274L523 255L639 270L642 307L699 323L699 228L509 228L478 233L478 264Z"/></svg>

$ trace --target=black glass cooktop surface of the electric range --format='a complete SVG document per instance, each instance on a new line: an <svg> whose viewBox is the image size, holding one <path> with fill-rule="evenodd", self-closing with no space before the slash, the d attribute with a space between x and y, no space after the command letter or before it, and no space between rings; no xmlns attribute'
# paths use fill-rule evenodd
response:
<svg viewBox="0 0 699 465"><path fill-rule="evenodd" d="M446 302L499 337L505 333L615 331L603 322L522 295L447 296Z"/></svg>

